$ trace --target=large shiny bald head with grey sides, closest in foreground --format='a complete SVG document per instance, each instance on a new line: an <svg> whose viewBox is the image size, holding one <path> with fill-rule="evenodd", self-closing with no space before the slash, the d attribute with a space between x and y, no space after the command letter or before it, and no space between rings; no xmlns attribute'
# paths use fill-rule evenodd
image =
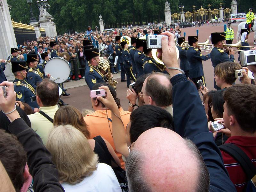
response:
<svg viewBox="0 0 256 192"><path fill-rule="evenodd" d="M131 192L208 191L209 173L195 144L166 128L143 132L126 159Z"/></svg>

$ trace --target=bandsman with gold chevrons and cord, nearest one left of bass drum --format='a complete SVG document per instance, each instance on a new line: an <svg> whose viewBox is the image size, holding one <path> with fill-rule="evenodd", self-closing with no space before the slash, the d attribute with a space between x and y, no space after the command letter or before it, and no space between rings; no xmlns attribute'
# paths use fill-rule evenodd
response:
<svg viewBox="0 0 256 192"><path fill-rule="evenodd" d="M26 82L27 76L26 62L12 61L12 73L15 76L13 81L14 91L16 92L16 100L27 103L34 112L39 111L36 101L32 102L31 97L36 95L35 89Z"/></svg>

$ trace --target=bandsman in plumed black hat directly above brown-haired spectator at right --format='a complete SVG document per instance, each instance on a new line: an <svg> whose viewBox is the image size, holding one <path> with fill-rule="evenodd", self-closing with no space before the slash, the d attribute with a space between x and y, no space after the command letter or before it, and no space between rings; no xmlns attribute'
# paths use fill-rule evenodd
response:
<svg viewBox="0 0 256 192"><path fill-rule="evenodd" d="M235 62L234 58L234 50L229 49L229 52L225 52L223 50L224 48L224 40L226 39L225 33L212 33L211 34L212 38L212 44L214 45L212 51L211 51L211 61L212 61L212 66L215 68L218 64L231 61ZM230 55L230 58L228 57L228 54ZM216 85L215 79L214 79L214 88L217 90L220 90L220 87Z"/></svg>

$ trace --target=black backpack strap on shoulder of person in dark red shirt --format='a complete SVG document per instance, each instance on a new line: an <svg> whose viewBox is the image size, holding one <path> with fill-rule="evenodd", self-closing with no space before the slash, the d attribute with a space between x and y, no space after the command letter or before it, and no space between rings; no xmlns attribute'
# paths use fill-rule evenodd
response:
<svg viewBox="0 0 256 192"><path fill-rule="evenodd" d="M247 181L251 180L256 174L256 167L252 164L251 159L244 153L244 151L235 144L226 143L219 146L220 150L232 156L243 168Z"/></svg>

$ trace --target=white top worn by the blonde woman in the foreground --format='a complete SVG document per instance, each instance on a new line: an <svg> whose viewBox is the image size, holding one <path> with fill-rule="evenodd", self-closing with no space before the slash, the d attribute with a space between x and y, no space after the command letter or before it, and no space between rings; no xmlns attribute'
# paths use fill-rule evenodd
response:
<svg viewBox="0 0 256 192"><path fill-rule="evenodd" d="M122 191L113 169L104 163L99 163L97 170L92 175L85 177L80 183L75 185L62 183L61 185L66 192Z"/></svg>

